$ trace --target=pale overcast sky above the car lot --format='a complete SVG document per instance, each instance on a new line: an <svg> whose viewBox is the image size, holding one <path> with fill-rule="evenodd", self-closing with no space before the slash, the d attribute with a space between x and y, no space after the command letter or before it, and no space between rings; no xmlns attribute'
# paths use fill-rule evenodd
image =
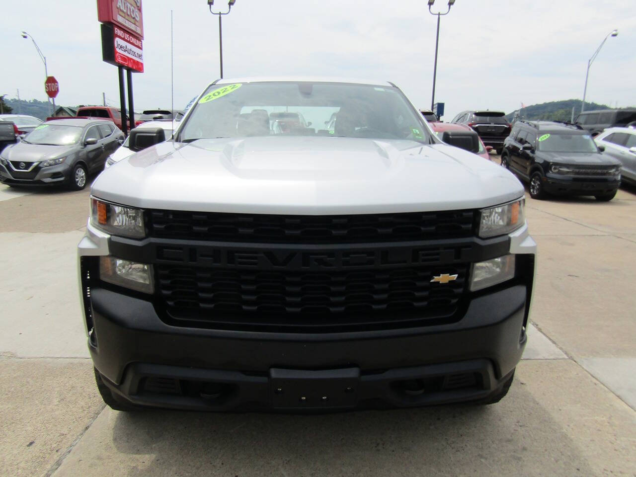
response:
<svg viewBox="0 0 636 477"><path fill-rule="evenodd" d="M217 0L225 4L226 1ZM320 75L385 79L418 107L431 106L436 17L426 0L237 0L223 17L226 78ZM434 9L446 7L436 0ZM92 0L4 4L0 94L46 100L32 34L60 83L57 104L119 104L117 69L101 59ZM135 109L170 106L170 9L174 10L174 106L219 76L218 17L206 0L143 0L145 73L134 74ZM500 109L581 99L636 106L633 0L457 0L441 17L436 100L444 119L463 109Z"/></svg>

